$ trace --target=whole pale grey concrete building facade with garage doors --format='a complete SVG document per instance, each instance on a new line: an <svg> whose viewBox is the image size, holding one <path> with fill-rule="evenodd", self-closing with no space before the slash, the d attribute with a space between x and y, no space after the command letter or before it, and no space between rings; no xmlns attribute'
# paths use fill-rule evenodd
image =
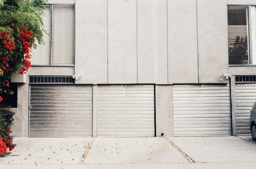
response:
<svg viewBox="0 0 256 169"><path fill-rule="evenodd" d="M48 2L49 61L32 61L25 77L12 78L16 137L250 134L255 0ZM54 30L61 27L54 12L67 12L61 7L74 15L68 42ZM229 39L236 36L229 18L236 10L246 16L245 64L229 64ZM71 62L56 61L70 52L58 45L70 43ZM33 54L40 58L42 51Z"/></svg>

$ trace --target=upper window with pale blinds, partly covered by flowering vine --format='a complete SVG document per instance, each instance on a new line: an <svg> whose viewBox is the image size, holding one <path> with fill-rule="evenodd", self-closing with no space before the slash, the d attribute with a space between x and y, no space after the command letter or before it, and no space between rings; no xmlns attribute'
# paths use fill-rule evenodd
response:
<svg viewBox="0 0 256 169"><path fill-rule="evenodd" d="M31 51L33 65L74 65L75 63L75 7L50 5L43 16L45 44Z"/></svg>

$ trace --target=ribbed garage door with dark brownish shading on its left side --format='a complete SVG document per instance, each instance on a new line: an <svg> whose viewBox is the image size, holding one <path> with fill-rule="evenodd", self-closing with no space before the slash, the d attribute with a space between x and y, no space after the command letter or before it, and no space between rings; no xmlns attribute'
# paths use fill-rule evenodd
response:
<svg viewBox="0 0 256 169"><path fill-rule="evenodd" d="M30 85L29 137L91 137L92 86Z"/></svg>

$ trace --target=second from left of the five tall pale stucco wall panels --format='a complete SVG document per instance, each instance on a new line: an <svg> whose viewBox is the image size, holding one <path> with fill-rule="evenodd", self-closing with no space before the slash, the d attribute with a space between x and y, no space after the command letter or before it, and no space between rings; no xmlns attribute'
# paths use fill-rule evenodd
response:
<svg viewBox="0 0 256 169"><path fill-rule="evenodd" d="M137 83L137 1L108 1L108 83Z"/></svg>

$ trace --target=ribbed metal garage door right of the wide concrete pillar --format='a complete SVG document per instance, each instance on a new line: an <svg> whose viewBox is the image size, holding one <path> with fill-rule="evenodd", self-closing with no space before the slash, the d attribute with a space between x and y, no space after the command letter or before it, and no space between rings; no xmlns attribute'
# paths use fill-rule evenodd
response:
<svg viewBox="0 0 256 169"><path fill-rule="evenodd" d="M229 85L174 85L174 136L231 135Z"/></svg>

